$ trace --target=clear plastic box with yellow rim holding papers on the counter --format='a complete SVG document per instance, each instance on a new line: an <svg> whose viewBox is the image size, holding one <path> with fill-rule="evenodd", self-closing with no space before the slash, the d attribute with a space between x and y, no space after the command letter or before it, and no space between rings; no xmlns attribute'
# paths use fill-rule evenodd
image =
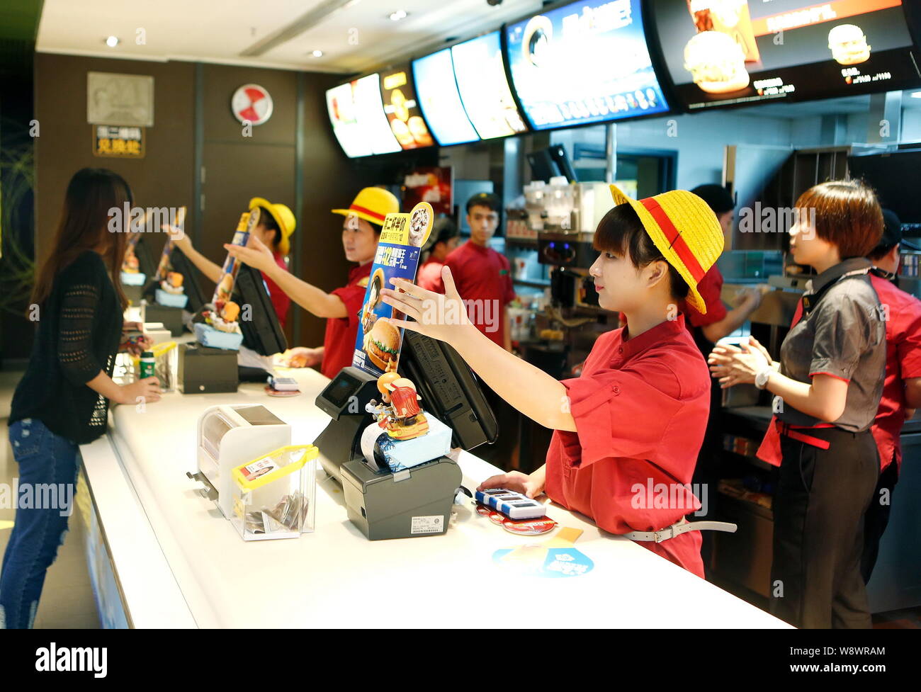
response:
<svg viewBox="0 0 921 692"><path fill-rule="evenodd" d="M230 523L243 540L297 538L313 531L317 448L280 447L232 471Z"/></svg>

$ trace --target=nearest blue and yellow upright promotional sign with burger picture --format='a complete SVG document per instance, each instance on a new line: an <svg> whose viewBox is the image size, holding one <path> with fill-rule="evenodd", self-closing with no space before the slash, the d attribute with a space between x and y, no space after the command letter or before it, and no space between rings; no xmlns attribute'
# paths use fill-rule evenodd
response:
<svg viewBox="0 0 921 692"><path fill-rule="evenodd" d="M378 251L367 282L365 302L358 316L358 337L352 364L371 375L395 372L400 361L402 329L389 319L393 308L381 300L391 279L414 281L419 252L432 231L435 213L420 202L410 213L389 213L380 230Z"/></svg>

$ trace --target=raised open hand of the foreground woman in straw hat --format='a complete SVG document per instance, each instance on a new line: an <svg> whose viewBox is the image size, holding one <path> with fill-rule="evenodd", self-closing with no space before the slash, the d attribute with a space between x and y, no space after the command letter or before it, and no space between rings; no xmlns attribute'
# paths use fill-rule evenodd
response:
<svg viewBox="0 0 921 692"><path fill-rule="evenodd" d="M441 268L445 293L426 291L405 279L391 279L400 291L385 288L380 292L384 303L396 308L415 322L401 322L400 327L418 331L427 337L448 341L461 333L461 328L470 325L467 308L454 285L454 277L448 267Z"/></svg>

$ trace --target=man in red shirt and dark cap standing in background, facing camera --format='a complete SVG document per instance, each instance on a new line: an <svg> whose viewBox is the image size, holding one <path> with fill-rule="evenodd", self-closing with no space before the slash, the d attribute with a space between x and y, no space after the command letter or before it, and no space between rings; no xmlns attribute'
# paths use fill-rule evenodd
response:
<svg viewBox="0 0 921 692"><path fill-rule="evenodd" d="M470 240L449 254L445 266L451 270L476 329L511 351L506 309L515 299L511 266L505 255L489 247L499 225L500 210L498 198L488 192L475 194L467 201Z"/></svg>

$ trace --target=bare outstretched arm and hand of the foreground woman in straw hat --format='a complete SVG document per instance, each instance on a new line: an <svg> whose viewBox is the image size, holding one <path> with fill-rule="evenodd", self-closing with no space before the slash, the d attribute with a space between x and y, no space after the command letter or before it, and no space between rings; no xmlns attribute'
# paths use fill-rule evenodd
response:
<svg viewBox="0 0 921 692"><path fill-rule="evenodd" d="M451 271L441 270L445 294L419 288L404 279L391 280L405 293L386 288L383 301L414 322L400 326L447 341L496 394L533 421L554 430L575 431L569 399L561 382L526 363L476 329L467 317Z"/></svg>

